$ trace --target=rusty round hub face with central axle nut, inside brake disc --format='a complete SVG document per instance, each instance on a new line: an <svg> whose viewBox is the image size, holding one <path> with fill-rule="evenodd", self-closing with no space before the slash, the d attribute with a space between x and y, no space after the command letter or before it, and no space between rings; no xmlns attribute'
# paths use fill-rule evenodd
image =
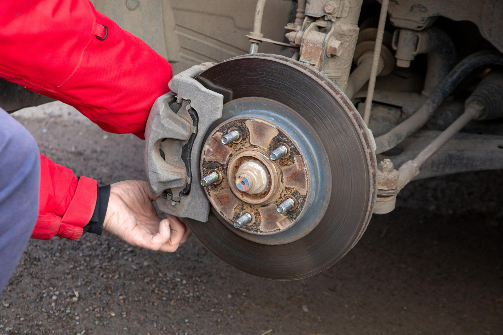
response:
<svg viewBox="0 0 503 335"><path fill-rule="evenodd" d="M239 139L223 144L222 137L231 131L239 132ZM280 146L287 148L287 154L273 161L270 155ZM260 117L232 118L209 135L201 162L201 175L210 170L222 175L221 182L205 190L229 225L249 213L253 220L242 231L277 234L303 215L310 184L308 167L295 141L278 125ZM292 198L295 206L279 213L278 206L286 198Z"/></svg>

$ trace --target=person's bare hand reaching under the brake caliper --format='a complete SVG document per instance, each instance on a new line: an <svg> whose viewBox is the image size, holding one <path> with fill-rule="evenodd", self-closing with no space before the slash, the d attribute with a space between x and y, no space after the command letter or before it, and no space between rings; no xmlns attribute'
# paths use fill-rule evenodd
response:
<svg viewBox="0 0 503 335"><path fill-rule="evenodd" d="M156 198L145 181L112 184L103 229L133 246L174 252L191 233L178 217L161 220L152 204Z"/></svg>

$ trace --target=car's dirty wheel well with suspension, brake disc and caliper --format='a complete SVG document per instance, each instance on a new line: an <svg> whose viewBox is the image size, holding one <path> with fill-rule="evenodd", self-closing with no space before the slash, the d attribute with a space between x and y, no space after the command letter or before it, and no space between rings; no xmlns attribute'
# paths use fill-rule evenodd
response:
<svg viewBox="0 0 503 335"><path fill-rule="evenodd" d="M313 275L409 181L503 167L501 2L93 3L179 73L147 123L147 177L239 270ZM0 92L8 111L47 102Z"/></svg>

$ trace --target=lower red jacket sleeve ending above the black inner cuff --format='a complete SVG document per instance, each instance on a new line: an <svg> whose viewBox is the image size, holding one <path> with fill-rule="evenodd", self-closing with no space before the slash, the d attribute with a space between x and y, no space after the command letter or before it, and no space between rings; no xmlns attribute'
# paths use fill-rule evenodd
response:
<svg viewBox="0 0 503 335"><path fill-rule="evenodd" d="M39 213L31 237L77 240L93 215L96 193L96 180L82 176L77 182L70 169L40 155Z"/></svg>

